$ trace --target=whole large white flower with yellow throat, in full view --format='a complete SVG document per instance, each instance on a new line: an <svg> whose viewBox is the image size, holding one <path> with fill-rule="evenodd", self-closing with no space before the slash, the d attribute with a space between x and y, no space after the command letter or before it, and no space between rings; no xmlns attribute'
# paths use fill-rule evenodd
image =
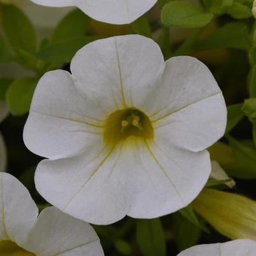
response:
<svg viewBox="0 0 256 256"><path fill-rule="evenodd" d="M189 204L211 170L226 107L193 57L163 60L158 45L128 35L89 43L38 83L24 142L43 160L36 188L90 223L154 218Z"/></svg>

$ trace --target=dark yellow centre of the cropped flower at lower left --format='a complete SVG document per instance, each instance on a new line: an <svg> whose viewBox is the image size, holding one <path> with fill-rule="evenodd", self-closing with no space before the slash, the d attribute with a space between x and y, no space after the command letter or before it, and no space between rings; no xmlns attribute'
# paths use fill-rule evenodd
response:
<svg viewBox="0 0 256 256"><path fill-rule="evenodd" d="M34 253L27 252L11 241L0 241L1 256L36 256Z"/></svg>

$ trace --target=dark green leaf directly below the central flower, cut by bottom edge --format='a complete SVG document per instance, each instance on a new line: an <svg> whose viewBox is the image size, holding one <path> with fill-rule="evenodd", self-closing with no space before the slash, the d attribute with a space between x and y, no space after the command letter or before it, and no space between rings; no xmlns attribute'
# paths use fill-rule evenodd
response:
<svg viewBox="0 0 256 256"><path fill-rule="evenodd" d="M144 256L165 256L165 238L160 218L137 220L137 243Z"/></svg>

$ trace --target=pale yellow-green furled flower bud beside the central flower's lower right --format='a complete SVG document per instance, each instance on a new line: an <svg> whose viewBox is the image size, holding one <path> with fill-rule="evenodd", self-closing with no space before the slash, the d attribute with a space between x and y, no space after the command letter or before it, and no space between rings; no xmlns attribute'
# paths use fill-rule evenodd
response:
<svg viewBox="0 0 256 256"><path fill-rule="evenodd" d="M218 232L230 239L256 241L256 202L234 193L206 188L193 207Z"/></svg>

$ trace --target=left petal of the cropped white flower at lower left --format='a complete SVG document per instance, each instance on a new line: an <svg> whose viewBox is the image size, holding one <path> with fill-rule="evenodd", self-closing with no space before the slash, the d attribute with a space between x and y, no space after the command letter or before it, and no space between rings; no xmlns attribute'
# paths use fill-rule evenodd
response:
<svg viewBox="0 0 256 256"><path fill-rule="evenodd" d="M38 215L27 189L13 176L0 173L0 241L24 246L24 239Z"/></svg>

